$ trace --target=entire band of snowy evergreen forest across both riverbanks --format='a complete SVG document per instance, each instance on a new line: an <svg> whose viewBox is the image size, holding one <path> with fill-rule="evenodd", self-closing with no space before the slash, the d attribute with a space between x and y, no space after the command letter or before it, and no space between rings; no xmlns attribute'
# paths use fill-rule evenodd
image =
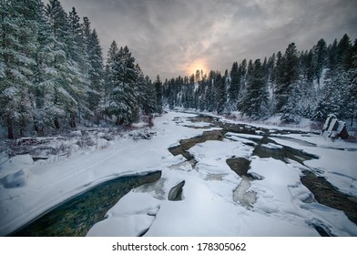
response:
<svg viewBox="0 0 357 255"><path fill-rule="evenodd" d="M144 74L128 46L113 41L103 60L96 29L58 0L0 2L0 123L7 138L80 125L130 125L184 107L251 118L282 114L356 117L357 40L291 43L264 60L234 62L224 74L200 70L161 82ZM232 53L234 54L234 53ZM158 70L159 71L159 70Z"/></svg>

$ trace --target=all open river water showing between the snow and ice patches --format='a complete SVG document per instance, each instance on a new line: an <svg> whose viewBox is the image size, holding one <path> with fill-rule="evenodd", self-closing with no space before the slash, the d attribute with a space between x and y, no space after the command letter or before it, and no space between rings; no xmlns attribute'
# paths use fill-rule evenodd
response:
<svg viewBox="0 0 357 255"><path fill-rule="evenodd" d="M191 117L189 120L191 122L205 122L209 123L210 127L221 128L220 130L204 131L201 136L195 138L182 139L179 141L179 146L168 148L173 155L181 154L187 158L193 167L197 162L195 158L189 154L189 148L208 140L230 138L228 134L231 133L250 135L260 133L262 138L247 138L248 141L251 141L250 145L254 147L253 155L257 155L260 158L271 157L285 163L288 163L289 159L292 159L302 165L305 160L316 158L316 156L305 153L299 149L276 144L270 139L270 130L265 128L253 128L241 124L227 124L220 122L214 117L205 116ZM293 133L294 131L279 131L280 134L287 132ZM295 133L301 134L303 132L296 131ZM277 133L275 132L274 134ZM314 146L304 141L300 142L304 143L305 146ZM280 149L264 146L268 143L270 145L279 146ZM227 164L242 179L238 188L233 191L233 200L240 202L241 206L247 208L252 207L256 200L256 194L253 191L247 190L250 188L250 182L256 179L248 173L250 160L247 158L229 158L227 159ZM340 209L344 211L352 222L357 224L356 198L343 194L326 179L317 177L312 169L311 171L303 170L303 174L304 176L301 178L301 182L305 187L311 190L313 194L311 201L316 200L328 207ZM85 236L87 231L97 223L97 221L105 218L107 210L114 206L130 189L155 182L160 179L160 176L161 172L157 171L147 175L124 177L104 182L49 210L37 219L26 224L25 227L16 230L11 236ZM177 187L171 189L170 194L168 194L168 199L180 199L184 184L185 182L183 181L179 183ZM311 201L307 200L306 202ZM315 229L321 236L330 235L319 226L315 226Z"/></svg>

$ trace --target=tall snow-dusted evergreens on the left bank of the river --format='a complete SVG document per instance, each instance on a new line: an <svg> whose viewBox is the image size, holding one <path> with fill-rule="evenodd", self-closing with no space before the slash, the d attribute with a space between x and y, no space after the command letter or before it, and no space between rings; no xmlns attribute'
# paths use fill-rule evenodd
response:
<svg viewBox="0 0 357 255"><path fill-rule="evenodd" d="M0 122L8 138L103 119L129 124L161 111L159 77L152 83L116 42L105 66L96 29L76 8L67 14L58 0L1 0L0 18Z"/></svg>

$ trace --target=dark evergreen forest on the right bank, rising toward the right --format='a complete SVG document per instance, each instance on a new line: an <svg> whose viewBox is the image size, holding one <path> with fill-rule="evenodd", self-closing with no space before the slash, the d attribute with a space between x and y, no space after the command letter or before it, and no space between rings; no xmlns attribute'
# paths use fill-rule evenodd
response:
<svg viewBox="0 0 357 255"><path fill-rule="evenodd" d="M344 35L327 45L321 39L309 51L291 43L269 58L234 62L230 72L177 77L164 83L169 107L241 114L258 119L281 114L286 122L300 117L322 120L328 114L357 115L357 40Z"/></svg>

